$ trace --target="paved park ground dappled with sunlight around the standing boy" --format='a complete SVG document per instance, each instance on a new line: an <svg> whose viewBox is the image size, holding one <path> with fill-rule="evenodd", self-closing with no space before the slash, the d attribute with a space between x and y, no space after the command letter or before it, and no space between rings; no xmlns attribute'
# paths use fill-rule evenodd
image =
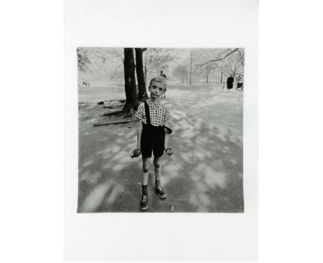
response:
<svg viewBox="0 0 323 263"><path fill-rule="evenodd" d="M243 92L170 85L163 101L172 110L174 155L161 162L165 200L150 167L148 212L243 212ZM137 123L94 127L104 112L97 103L79 107L78 212L141 213L141 158L129 158Z"/></svg>

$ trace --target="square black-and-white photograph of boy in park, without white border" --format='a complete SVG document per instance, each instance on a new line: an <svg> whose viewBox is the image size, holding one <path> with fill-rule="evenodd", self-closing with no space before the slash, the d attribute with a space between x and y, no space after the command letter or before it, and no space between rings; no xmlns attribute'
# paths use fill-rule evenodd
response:
<svg viewBox="0 0 323 263"><path fill-rule="evenodd" d="M244 213L244 48L75 59L78 213Z"/></svg>

